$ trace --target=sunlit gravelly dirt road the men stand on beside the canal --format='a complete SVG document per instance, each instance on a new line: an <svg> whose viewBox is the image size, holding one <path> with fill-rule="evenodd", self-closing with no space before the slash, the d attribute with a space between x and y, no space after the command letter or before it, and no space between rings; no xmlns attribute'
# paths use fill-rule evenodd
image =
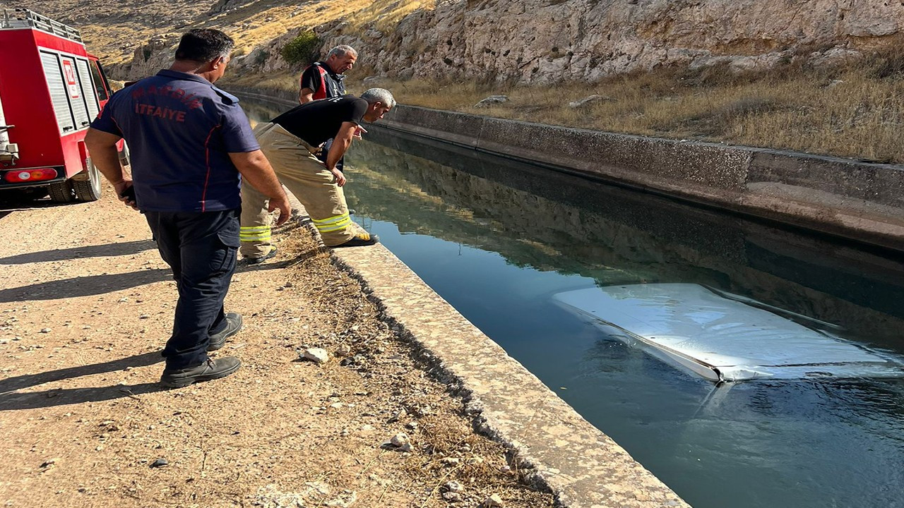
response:
<svg viewBox="0 0 904 508"><path fill-rule="evenodd" d="M174 282L111 196L0 214L5 506L552 505L306 228L233 278L245 324L218 353L240 372L165 390ZM382 446L402 432L410 451Z"/></svg>

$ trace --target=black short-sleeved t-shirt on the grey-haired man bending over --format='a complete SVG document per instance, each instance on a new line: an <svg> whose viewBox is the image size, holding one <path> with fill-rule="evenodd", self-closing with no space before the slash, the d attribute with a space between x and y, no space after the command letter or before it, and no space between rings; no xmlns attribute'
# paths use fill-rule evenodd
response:
<svg viewBox="0 0 904 508"><path fill-rule="evenodd" d="M361 125L361 119L366 112L366 100L353 95L344 95L306 102L289 109L272 121L304 139L309 145L319 146L327 139L335 137L344 122Z"/></svg>

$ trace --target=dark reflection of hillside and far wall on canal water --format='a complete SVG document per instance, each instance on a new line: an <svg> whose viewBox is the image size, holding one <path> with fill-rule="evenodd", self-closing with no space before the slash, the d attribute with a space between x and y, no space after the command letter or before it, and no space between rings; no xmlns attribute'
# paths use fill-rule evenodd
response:
<svg viewBox="0 0 904 508"><path fill-rule="evenodd" d="M377 129L368 139L346 158L350 206L402 231L600 285L720 287L904 347L898 262L454 146Z"/></svg>

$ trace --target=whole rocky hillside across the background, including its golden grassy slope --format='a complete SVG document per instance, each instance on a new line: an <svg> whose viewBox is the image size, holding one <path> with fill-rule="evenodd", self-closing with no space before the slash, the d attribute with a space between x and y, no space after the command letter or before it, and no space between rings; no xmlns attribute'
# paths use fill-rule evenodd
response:
<svg viewBox="0 0 904 508"><path fill-rule="evenodd" d="M194 26L236 37L232 72L287 70L278 50L313 29L325 49L358 48L377 75L519 83L595 82L663 65L831 64L904 42L900 0L42 0L33 8L84 28L119 78L165 65L175 37Z"/></svg>

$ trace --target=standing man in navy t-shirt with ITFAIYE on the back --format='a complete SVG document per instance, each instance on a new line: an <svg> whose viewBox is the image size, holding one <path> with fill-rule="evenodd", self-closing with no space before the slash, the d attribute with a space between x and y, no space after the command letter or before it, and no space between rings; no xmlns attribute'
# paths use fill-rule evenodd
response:
<svg viewBox="0 0 904 508"><path fill-rule="evenodd" d="M239 369L238 358L212 360L207 352L241 328L240 315L223 311L239 247L241 178L269 196L279 223L291 212L239 99L212 84L233 45L218 30L185 33L173 65L114 94L85 136L91 160L120 201L145 214L173 268L179 301L160 379L169 387ZM119 165L120 138L132 154L134 181Z"/></svg>

